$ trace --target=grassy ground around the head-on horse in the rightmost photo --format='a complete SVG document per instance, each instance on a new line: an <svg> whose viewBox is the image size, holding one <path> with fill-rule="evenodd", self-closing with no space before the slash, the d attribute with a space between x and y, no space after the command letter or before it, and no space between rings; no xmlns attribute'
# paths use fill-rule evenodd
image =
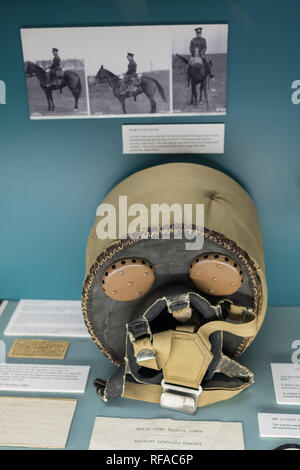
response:
<svg viewBox="0 0 300 470"><path fill-rule="evenodd" d="M184 56L189 59L190 56ZM208 103L210 113L226 111L227 54L209 54L213 79L209 79ZM173 110L175 113L206 113L206 105L199 104L200 84L197 85L197 106L191 104L192 90L187 87L187 65L173 56ZM203 97L204 99L204 97Z"/></svg>

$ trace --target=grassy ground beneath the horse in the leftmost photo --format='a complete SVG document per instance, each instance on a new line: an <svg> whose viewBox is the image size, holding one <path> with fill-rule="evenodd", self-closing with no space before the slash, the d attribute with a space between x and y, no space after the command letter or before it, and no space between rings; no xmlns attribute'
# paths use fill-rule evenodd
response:
<svg viewBox="0 0 300 470"><path fill-rule="evenodd" d="M68 87L60 90L53 90L54 111L48 111L48 101L40 82L36 77L27 78L27 91L29 100L29 109L31 116L69 116L78 114L87 114L87 96L85 86L84 70L72 70L79 75L82 91L78 101L78 110L74 110L75 99Z"/></svg>

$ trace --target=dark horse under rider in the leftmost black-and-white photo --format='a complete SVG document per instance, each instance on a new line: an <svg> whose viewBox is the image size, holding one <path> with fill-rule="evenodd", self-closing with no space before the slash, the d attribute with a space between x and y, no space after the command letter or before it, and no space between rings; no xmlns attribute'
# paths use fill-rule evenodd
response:
<svg viewBox="0 0 300 470"><path fill-rule="evenodd" d="M48 111L53 111L55 106L53 102L53 96L52 96L52 91L53 90L60 90L62 91L62 88L67 87L71 91L72 95L74 96L75 99L75 106L74 109L75 111L78 110L78 100L81 95L81 81L80 77L77 75L77 73L72 72L71 70L65 70L63 73L62 78L58 79L58 83L51 84L48 86L48 80L47 80L47 72L43 67L35 64L34 62L26 62L25 64L25 72L27 77L33 77L35 76L39 82L42 90L44 90L47 102L48 102Z"/></svg>

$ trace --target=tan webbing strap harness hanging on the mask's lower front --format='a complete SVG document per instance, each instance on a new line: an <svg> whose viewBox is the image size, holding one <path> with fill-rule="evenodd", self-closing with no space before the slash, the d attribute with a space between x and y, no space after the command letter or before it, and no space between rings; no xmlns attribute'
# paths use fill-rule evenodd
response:
<svg viewBox="0 0 300 470"><path fill-rule="evenodd" d="M232 313L235 314L235 321L210 321L202 325L196 333L194 333L194 325L187 323L178 326L176 330L167 330L152 335L152 342L149 336L134 340L129 334L128 339L133 344L136 357L143 349L153 353L153 359L139 361L139 365L155 370L162 369L164 381L167 383L187 387L187 389L198 389L213 359L209 338L214 332L225 331L244 337L252 337L257 333L255 315L248 312L250 321L241 323L243 319L245 321L242 310L237 309ZM163 392L161 385L126 381L127 361L126 359L122 374L116 374L118 375L116 382L120 382L120 386L115 387L112 381L108 382L106 386L101 386L99 394L102 398L123 396L134 400L160 403ZM128 370L128 372L130 371ZM215 372L223 373L233 380L226 383L222 379L218 381L214 378L204 382L203 391L198 398L198 407L232 398L254 381L252 372L225 355L221 356ZM109 390L110 383L112 385L110 388L114 391L118 388L119 391L116 394Z"/></svg>

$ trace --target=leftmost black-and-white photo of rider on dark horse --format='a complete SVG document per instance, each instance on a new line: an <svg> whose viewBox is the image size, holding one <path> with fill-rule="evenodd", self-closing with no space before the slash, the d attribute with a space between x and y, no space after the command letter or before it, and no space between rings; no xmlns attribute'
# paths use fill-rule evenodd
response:
<svg viewBox="0 0 300 470"><path fill-rule="evenodd" d="M30 116L88 114L81 28L22 29Z"/></svg>

